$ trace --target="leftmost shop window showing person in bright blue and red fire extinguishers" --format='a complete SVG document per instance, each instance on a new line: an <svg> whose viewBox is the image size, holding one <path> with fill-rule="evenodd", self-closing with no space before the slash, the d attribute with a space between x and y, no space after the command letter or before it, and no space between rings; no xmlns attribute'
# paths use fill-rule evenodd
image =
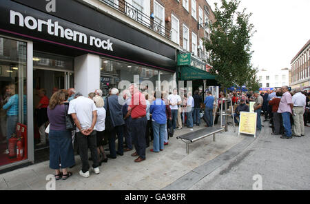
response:
<svg viewBox="0 0 310 204"><path fill-rule="evenodd" d="M0 166L28 158L26 48L0 37Z"/></svg>

